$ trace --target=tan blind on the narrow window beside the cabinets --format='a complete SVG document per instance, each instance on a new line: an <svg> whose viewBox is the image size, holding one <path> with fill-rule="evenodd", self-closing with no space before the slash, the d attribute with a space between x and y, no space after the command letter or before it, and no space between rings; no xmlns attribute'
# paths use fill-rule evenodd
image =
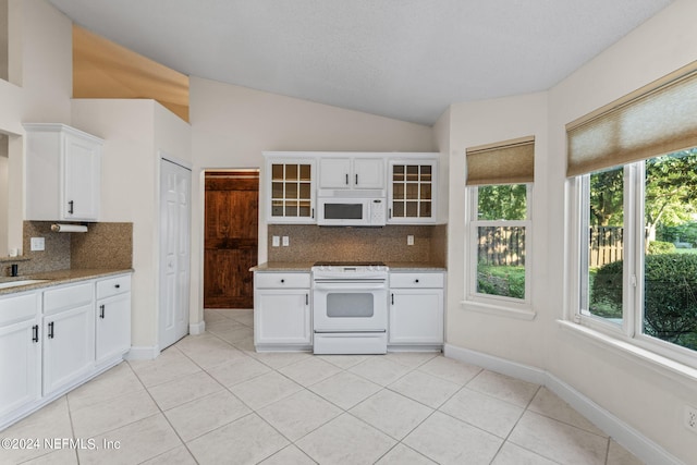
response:
<svg viewBox="0 0 697 465"><path fill-rule="evenodd" d="M535 137L522 137L466 150L467 185L521 184L535 179Z"/></svg>

